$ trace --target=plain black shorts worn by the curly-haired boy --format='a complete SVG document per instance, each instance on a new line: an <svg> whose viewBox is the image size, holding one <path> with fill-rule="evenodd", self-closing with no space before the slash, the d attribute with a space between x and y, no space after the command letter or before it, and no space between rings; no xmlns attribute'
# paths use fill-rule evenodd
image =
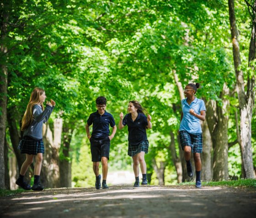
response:
<svg viewBox="0 0 256 218"><path fill-rule="evenodd" d="M109 159L110 139L104 138L90 138L91 142L91 161L100 162L101 157L107 157Z"/></svg>

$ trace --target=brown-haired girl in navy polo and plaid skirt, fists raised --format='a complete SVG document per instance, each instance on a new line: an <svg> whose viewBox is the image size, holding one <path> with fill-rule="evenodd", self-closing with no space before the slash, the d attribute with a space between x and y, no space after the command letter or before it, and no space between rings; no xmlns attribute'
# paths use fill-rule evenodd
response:
<svg viewBox="0 0 256 218"><path fill-rule="evenodd" d="M147 185L147 166L144 160L145 153L148 153L149 141L146 128L151 129L151 116L144 114L144 108L139 101L129 101L128 114L123 117L120 113L119 129L128 126L128 155L133 158L133 172L135 183L133 187L139 187L139 165L142 172L142 185Z"/></svg>

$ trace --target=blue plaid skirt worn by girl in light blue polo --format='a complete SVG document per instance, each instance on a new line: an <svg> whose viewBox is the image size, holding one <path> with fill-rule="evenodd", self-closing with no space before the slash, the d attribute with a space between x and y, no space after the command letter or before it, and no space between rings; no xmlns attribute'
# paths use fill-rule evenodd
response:
<svg viewBox="0 0 256 218"><path fill-rule="evenodd" d="M185 146L190 146L192 148L192 153L203 152L202 133L189 133L187 131L180 131L179 136L182 150L184 150Z"/></svg>

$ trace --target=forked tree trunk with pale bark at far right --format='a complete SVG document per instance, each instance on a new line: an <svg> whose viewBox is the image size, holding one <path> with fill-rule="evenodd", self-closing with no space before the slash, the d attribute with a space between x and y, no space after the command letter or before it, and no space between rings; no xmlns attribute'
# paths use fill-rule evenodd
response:
<svg viewBox="0 0 256 218"><path fill-rule="evenodd" d="M229 0L229 22L230 22L230 30L231 30L231 37L232 37L237 94L238 94L239 108L240 108L240 139L241 139L241 148L242 148L241 155L243 158L245 177L254 178L252 149L251 149L251 117L252 117L252 109L254 106L255 76L248 75L247 93L245 95L244 75L243 75L243 71L240 69L241 58L240 58L240 49L239 49L239 42L238 42L238 30L237 30L236 21L235 21L234 0ZM252 31L251 31L252 38L254 37L254 39L252 39L254 41L254 45L252 43L252 46L254 46L254 52L255 52L255 35L253 31L255 31L255 25L252 26ZM253 52L253 47L251 47L251 44L250 44L249 52ZM251 54L249 54L249 66L251 63L251 60L250 60L250 57L252 56Z"/></svg>

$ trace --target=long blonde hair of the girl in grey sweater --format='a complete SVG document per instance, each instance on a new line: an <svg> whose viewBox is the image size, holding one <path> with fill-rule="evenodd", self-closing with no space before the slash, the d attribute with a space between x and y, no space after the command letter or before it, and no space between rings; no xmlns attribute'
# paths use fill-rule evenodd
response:
<svg viewBox="0 0 256 218"><path fill-rule="evenodd" d="M44 90L41 88L34 88L34 90L31 93L26 112L22 118L22 125L21 125L21 131L24 131L27 129L27 127L32 123L33 121L33 113L32 108L34 105L40 104L43 108L43 103L40 101L40 96L43 95Z"/></svg>

